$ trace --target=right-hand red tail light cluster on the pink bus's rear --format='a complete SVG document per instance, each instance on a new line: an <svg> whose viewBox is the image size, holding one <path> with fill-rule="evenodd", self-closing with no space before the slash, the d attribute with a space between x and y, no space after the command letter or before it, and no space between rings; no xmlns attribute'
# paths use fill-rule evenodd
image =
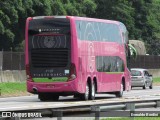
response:
<svg viewBox="0 0 160 120"><path fill-rule="evenodd" d="M68 77L68 81L76 79L76 67L75 64L71 63L70 73Z"/></svg>

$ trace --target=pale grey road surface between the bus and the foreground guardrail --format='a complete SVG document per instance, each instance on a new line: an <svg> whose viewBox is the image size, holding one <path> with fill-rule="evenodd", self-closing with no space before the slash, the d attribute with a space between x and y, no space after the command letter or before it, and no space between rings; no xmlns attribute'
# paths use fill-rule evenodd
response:
<svg viewBox="0 0 160 120"><path fill-rule="evenodd" d="M23 108L40 108L46 107L49 108L58 108L65 106L74 106L78 104L94 104L94 103L102 103L102 102L113 102L113 101L125 101L127 99L152 99L152 98L160 98L160 86L154 86L153 89L142 89L142 88L133 88L129 92L124 92L124 96L122 98L115 98L115 95L110 94L97 94L96 100L94 101L79 101L78 99L74 99L73 96L68 97L60 97L59 101L56 102L41 102L37 95L33 96L21 96L21 97L7 97L0 98L0 111L9 111L18 109L21 110Z"/></svg>

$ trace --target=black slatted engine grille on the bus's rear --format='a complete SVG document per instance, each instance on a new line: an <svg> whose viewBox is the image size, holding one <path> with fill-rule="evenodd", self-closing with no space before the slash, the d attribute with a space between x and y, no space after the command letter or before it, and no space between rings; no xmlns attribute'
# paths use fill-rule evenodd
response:
<svg viewBox="0 0 160 120"><path fill-rule="evenodd" d="M68 65L68 49L32 49L32 67L66 67Z"/></svg>

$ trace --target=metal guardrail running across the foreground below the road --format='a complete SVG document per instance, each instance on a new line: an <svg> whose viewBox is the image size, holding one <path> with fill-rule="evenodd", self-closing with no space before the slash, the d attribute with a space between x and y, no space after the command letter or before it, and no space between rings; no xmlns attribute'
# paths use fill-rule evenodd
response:
<svg viewBox="0 0 160 120"><path fill-rule="evenodd" d="M137 108L157 108L160 107L160 98L150 99L150 100L128 100L128 101L117 101L117 102L106 102L106 103L96 103L88 105L75 105L61 108L43 108L43 109L24 109L15 110L15 113L25 113L25 112L38 112L45 117L57 117L57 120L62 120L63 117L95 117L95 120L99 120L102 113L103 117L120 117L122 111L125 111L125 116L132 117L131 113L135 113ZM122 110L121 112L118 110ZM13 112L13 111L12 111ZM160 111L158 113L160 115ZM134 117L134 116L133 116ZM12 118L9 120L20 120L21 118ZM0 120L3 120L0 117Z"/></svg>

